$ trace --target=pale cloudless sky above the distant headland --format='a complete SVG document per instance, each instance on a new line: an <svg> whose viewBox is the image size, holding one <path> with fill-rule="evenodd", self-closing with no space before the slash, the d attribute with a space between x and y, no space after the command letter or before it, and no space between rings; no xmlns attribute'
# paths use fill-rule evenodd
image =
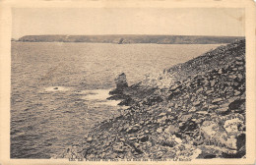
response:
<svg viewBox="0 0 256 165"><path fill-rule="evenodd" d="M12 37L36 34L244 36L244 10L237 8L14 8Z"/></svg>

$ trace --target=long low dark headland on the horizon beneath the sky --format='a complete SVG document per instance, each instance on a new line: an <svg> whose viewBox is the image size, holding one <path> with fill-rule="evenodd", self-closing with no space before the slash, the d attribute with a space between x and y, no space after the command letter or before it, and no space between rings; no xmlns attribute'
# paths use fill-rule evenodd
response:
<svg viewBox="0 0 256 165"><path fill-rule="evenodd" d="M19 42L90 42L90 43L156 43L156 44L218 44L230 43L243 36L199 36L199 35L25 35Z"/></svg>

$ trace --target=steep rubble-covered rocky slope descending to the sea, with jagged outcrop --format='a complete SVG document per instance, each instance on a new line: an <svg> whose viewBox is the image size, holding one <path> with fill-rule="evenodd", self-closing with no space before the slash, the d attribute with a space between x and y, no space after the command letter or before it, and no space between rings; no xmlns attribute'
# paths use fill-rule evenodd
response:
<svg viewBox="0 0 256 165"><path fill-rule="evenodd" d="M244 158L245 40L128 86L109 99L129 105L98 123L60 158Z"/></svg>

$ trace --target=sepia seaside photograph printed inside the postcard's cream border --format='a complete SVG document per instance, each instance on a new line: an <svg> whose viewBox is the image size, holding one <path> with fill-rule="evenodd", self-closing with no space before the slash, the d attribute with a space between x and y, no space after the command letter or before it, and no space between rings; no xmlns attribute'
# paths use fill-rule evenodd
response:
<svg viewBox="0 0 256 165"><path fill-rule="evenodd" d="M12 8L10 159L245 160L245 13Z"/></svg>

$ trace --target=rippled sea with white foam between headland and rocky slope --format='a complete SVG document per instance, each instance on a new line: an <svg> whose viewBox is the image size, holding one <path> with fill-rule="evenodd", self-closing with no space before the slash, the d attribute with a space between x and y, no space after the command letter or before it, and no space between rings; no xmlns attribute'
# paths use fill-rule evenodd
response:
<svg viewBox="0 0 256 165"><path fill-rule="evenodd" d="M50 158L125 108L106 100L118 74L138 83L218 46L12 42L11 158Z"/></svg>

